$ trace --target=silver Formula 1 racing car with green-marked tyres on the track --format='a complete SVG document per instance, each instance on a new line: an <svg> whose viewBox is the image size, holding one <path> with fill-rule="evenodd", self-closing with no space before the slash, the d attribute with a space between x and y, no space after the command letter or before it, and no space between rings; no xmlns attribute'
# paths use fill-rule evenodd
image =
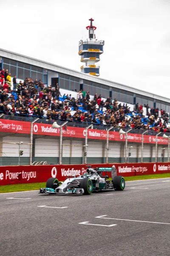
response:
<svg viewBox="0 0 170 256"><path fill-rule="evenodd" d="M111 180L108 180L107 172L111 172ZM92 192L124 189L125 179L117 176L116 168L88 166L83 175L68 177L64 182L57 178L49 178L46 187L41 188L40 193L91 195Z"/></svg>

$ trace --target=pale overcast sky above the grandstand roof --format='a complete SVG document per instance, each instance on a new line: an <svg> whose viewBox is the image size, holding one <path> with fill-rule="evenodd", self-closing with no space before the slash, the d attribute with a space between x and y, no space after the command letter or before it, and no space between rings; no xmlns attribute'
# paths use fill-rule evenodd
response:
<svg viewBox="0 0 170 256"><path fill-rule="evenodd" d="M0 48L77 71L92 17L100 77L170 98L170 0L0 0L0 17Z"/></svg>

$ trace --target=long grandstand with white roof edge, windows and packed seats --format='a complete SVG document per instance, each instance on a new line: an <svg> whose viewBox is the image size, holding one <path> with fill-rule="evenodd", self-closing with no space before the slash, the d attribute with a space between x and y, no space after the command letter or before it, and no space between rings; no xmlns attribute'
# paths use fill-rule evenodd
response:
<svg viewBox="0 0 170 256"><path fill-rule="evenodd" d="M154 93L3 49L0 71L7 116L169 132L170 99Z"/></svg>

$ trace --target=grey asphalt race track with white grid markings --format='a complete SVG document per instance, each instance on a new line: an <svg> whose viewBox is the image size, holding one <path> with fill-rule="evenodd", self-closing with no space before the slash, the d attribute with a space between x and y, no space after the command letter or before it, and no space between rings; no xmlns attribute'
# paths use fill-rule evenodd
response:
<svg viewBox="0 0 170 256"><path fill-rule="evenodd" d="M0 194L0 256L6 255L170 256L170 178L92 195Z"/></svg>

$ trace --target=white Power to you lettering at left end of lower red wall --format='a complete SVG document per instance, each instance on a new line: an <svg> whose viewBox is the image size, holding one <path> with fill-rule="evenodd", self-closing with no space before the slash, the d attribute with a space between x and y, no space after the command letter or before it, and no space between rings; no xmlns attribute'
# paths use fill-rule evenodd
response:
<svg viewBox="0 0 170 256"><path fill-rule="evenodd" d="M5 176L5 177L4 177ZM5 175L2 173L0 173L0 180L3 180L5 178L5 180L15 180L15 179L26 179L29 180L30 178L36 178L36 172L9 172L8 170L6 170Z"/></svg>

